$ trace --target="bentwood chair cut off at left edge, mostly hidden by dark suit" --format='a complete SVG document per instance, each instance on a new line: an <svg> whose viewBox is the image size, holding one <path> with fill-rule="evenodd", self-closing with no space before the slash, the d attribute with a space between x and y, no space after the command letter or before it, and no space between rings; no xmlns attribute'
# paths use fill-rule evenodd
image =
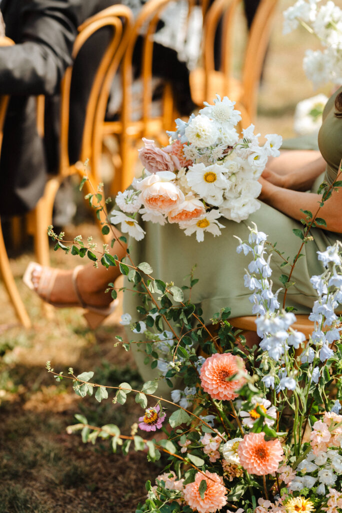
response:
<svg viewBox="0 0 342 513"><path fill-rule="evenodd" d="M14 45L14 42L10 40L8 37L0 37L0 46L11 46ZM9 96L1 96L0 97L0 152L3 143L3 135L4 135L4 122L7 111L7 105L9 101ZM4 242L3 231L0 223L0 272L9 295L10 301L14 307L14 311L20 323L25 328L31 327L31 321L29 315L25 309L22 298L20 298L20 294L16 287L12 270L9 264L7 251Z"/></svg>

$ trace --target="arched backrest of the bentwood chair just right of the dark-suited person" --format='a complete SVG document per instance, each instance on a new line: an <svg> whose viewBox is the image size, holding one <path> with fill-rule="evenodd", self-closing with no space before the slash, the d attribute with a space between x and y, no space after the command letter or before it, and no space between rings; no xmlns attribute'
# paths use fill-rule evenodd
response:
<svg viewBox="0 0 342 513"><path fill-rule="evenodd" d="M77 160L92 160L93 132L99 97L108 100L104 78L114 75L126 48L132 11L115 5L88 18L79 27L73 65L61 84L60 173ZM103 121L103 119L102 119Z"/></svg>

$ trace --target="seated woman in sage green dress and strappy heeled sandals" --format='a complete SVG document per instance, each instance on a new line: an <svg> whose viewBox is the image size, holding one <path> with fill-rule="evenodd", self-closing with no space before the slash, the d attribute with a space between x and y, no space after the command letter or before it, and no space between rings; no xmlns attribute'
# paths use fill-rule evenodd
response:
<svg viewBox="0 0 342 513"><path fill-rule="evenodd" d="M301 209L315 212L322 198L316 193L319 184L323 179L331 184L338 173L342 159L342 87L325 107L318 144L320 152L285 151L280 157L270 160L260 179L260 209L241 223L221 218L220 222L225 228L222 228L220 236L206 234L204 242L198 243L194 235L186 236L176 224L160 226L143 223L146 231L143 241L128 241L133 262L148 262L155 278L164 282L173 281L178 286L186 284L184 278L196 264L194 275L199 282L191 292L191 301L201 305L205 322L209 322L213 313L225 306L231 308L232 317L251 314L250 291L244 287L243 279L250 256L236 252L237 240L233 235L247 240L248 226L254 222L259 231L265 232L268 240L277 243L277 249L292 260L301 244L292 231L302 228L300 220L304 214ZM324 270L316 251L325 250L337 239L342 242L341 194L334 191L320 210L319 217L325 219L327 227L311 230L313 240L304 246L304 257L295 266L292 275L295 283L288 290L287 306L294 306L297 313L309 313L316 299L309 280L313 274L320 274ZM120 259L124 257L124 250L117 242L113 254ZM274 290L282 287L279 281L284 272L282 262L279 255L272 255L270 265ZM109 295L103 291L118 275L117 267L110 267L107 271L104 268L95 269L92 264L78 268L76 273L38 265L30 270L32 287L42 299L58 306L65 303L68 306L81 304L91 311L102 311L103 315L108 313L110 301ZM130 313L133 319L137 319L138 301L137 294L124 293L123 311ZM130 338L133 337L130 335ZM141 354L143 359L144 353ZM139 360L139 356L137 358ZM149 366L145 367L145 372L142 364L139 368L143 375L147 374L151 379Z"/></svg>

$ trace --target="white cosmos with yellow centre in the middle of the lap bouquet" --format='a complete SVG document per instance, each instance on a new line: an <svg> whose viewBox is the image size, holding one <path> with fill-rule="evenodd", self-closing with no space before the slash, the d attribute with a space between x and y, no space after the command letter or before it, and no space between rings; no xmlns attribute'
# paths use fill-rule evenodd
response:
<svg viewBox="0 0 342 513"><path fill-rule="evenodd" d="M222 171L223 167L219 164L211 166L205 166L203 163L194 164L186 173L187 183L201 198L204 198L207 195L215 194L218 188L229 187Z"/></svg>

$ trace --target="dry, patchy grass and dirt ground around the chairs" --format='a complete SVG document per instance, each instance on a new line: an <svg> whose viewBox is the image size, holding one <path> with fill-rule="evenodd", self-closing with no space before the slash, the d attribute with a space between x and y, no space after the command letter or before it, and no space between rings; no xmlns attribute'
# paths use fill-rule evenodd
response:
<svg viewBox="0 0 342 513"><path fill-rule="evenodd" d="M255 125L258 131L292 137L296 103L317 92L307 81L302 58L314 48L304 30L283 36L282 10L293 2L279 0L259 96ZM316 45L317 47L317 45ZM70 236L88 235L92 224L70 226ZM98 234L97 234L98 236ZM11 253L11 266L33 326L25 330L0 287L0 513L132 513L145 496L144 483L160 467L149 464L144 453L115 455L108 442L84 445L80 436L67 435L75 413L96 425L115 423L122 432L141 415L129 397L126 405L94 398L80 400L71 384L56 383L45 370L47 360L58 372L93 370L97 382L139 384L131 354L114 348L121 308L95 332L87 328L81 310L55 310L47 316L41 302L21 282L34 259L30 241ZM51 250L53 265L72 268L73 257Z"/></svg>

